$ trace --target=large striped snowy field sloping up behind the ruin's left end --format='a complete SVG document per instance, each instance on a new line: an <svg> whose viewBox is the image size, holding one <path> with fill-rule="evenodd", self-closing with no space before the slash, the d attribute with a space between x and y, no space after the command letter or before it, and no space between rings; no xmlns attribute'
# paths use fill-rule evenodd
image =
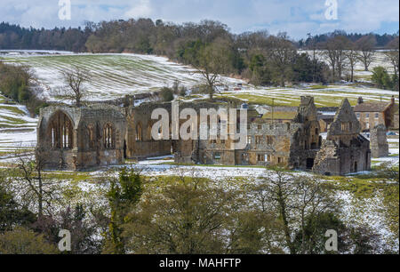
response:
<svg viewBox="0 0 400 272"><path fill-rule="evenodd" d="M108 100L126 94L154 92L164 86L172 86L175 80L189 88L201 82L201 76L195 69L152 55L12 52L0 57L5 62L31 67L44 89L42 96L49 100L54 100L57 95L55 91L64 84L61 72L73 66L91 72L92 79L86 84L90 92L88 100ZM226 84L242 82L229 77L223 80Z"/></svg>

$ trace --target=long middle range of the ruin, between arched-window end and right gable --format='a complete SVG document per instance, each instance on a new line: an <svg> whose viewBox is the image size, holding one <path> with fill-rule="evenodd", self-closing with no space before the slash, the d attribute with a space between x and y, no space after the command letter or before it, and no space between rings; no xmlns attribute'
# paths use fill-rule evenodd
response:
<svg viewBox="0 0 400 272"><path fill-rule="evenodd" d="M229 108L229 104L200 102L180 103L180 111L184 108L194 108L197 113L197 131L200 132L200 108ZM235 107L235 106L234 106ZM232 140L223 140L218 135L215 140L174 140L155 141L148 139L143 133L147 131L151 121L151 113L156 108L164 108L170 118L172 117L171 103L143 104L140 107L129 108L128 129L126 135L127 156L162 156L171 154L171 146L177 163L200 163L200 164L291 164L295 167L306 169L307 159L314 159L315 150L319 148L319 124L316 121L316 108L314 100L303 98L300 109L300 122L304 124L271 124L263 120L254 110L248 111L248 144L243 150L235 150ZM237 116L238 119L238 116ZM180 120L183 124L187 120ZM229 121L229 119L228 119ZM171 120L170 120L171 123ZM141 127L141 139L136 140L138 125ZM209 125L209 124L208 124ZM218 132L220 126L218 124ZM233 133L236 127L228 126L228 132ZM171 133L171 130L170 130ZM307 156L307 157L305 157ZM294 159L292 159L294 157Z"/></svg>

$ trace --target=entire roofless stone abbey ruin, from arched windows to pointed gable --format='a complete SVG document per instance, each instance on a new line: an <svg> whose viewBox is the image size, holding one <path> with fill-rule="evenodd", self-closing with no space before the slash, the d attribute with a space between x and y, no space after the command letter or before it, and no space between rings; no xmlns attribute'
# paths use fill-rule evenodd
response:
<svg viewBox="0 0 400 272"><path fill-rule="evenodd" d="M93 104L80 108L60 105L43 108L37 125L37 147L45 168L82 171L105 165L124 164L124 159L174 155L181 164L284 165L325 175L344 175L370 170L370 141L361 135L361 125L348 100L343 100L321 136L313 97L301 97L291 122L277 123L247 109L247 139L243 149L232 140L154 140L151 118L156 108L170 113L171 103L143 103L138 107ZM222 102L180 102L180 109L247 108ZM200 120L200 118L197 118ZM229 119L230 120L230 119ZM181 123L187 120L180 120ZM230 121L229 121L230 122ZM218 121L218 126L223 121ZM197 124L200 127L200 122ZM239 122L228 125L228 133ZM381 130L381 128L380 128ZM379 135L382 133L378 130ZM163 133L163 132L160 132ZM170 132L171 133L171 121ZM378 136L383 137L383 136ZM171 139L171 138L170 138ZM380 148L374 144L374 148ZM378 152L375 151L374 152Z"/></svg>

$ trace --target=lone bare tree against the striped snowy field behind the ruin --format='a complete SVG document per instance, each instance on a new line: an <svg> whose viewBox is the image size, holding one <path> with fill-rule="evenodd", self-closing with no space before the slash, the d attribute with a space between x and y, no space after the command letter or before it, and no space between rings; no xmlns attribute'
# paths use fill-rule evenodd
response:
<svg viewBox="0 0 400 272"><path fill-rule="evenodd" d="M90 72L84 68L74 66L70 70L61 72L65 86L60 89L59 96L63 100L72 100L76 107L81 107L82 101L87 96L87 90L84 83L91 80Z"/></svg>

